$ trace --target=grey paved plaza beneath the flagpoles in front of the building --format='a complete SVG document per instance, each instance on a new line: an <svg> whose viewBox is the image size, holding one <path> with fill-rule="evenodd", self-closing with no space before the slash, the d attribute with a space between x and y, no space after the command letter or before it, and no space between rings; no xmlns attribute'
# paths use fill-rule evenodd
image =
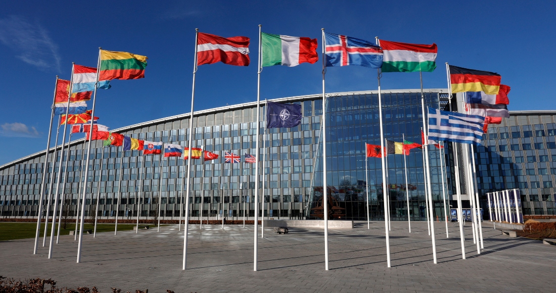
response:
<svg viewBox="0 0 556 293"><path fill-rule="evenodd" d="M52 278L60 286L97 286L166 292L371 292L484 291L548 292L554 288L556 247L500 235L484 222L485 249L476 254L465 226L466 260L459 229L435 222L438 264L433 264L425 222L393 222L392 267L386 267L384 222L356 222L353 230L330 230L330 270L324 270L324 231L265 230L259 239L259 271L253 271L252 226L190 226L186 271L181 270L183 231L177 226L84 235L82 263L77 241L61 236L48 260L48 247L32 254L33 239L0 242L0 275Z"/></svg>

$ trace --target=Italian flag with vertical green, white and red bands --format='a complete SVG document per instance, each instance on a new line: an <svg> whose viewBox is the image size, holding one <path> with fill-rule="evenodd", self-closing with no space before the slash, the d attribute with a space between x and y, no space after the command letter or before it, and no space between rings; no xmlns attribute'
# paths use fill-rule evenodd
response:
<svg viewBox="0 0 556 293"><path fill-rule="evenodd" d="M316 53L316 39L280 36L261 33L262 66L297 66L300 63L315 63L319 60Z"/></svg>

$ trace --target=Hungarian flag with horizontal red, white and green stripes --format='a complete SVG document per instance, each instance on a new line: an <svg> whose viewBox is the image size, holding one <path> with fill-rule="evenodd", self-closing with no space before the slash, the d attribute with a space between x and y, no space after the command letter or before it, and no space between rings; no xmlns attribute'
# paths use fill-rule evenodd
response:
<svg viewBox="0 0 556 293"><path fill-rule="evenodd" d="M432 72L436 68L436 44L409 44L380 40L383 72Z"/></svg>

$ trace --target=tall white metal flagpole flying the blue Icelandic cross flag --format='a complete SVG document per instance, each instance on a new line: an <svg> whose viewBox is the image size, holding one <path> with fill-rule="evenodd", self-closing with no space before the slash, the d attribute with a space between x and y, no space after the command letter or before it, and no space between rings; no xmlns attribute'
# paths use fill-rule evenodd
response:
<svg viewBox="0 0 556 293"><path fill-rule="evenodd" d="M324 261L328 270L328 188L326 185L326 95L324 76L326 73L326 38L322 28L322 206L324 206ZM269 200L270 201L270 200Z"/></svg>

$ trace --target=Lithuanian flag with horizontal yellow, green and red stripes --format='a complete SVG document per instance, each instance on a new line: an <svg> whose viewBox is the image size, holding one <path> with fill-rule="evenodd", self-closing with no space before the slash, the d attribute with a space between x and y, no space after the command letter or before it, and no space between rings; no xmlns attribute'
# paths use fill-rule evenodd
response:
<svg viewBox="0 0 556 293"><path fill-rule="evenodd" d="M145 77L147 56L101 50L98 80L137 80Z"/></svg>

